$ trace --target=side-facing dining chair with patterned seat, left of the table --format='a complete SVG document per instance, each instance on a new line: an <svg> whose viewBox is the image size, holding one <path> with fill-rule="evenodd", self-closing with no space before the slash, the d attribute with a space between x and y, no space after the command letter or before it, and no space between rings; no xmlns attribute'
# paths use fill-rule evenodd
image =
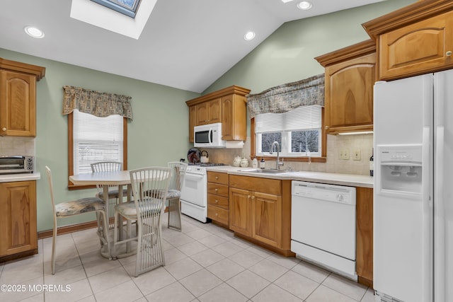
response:
<svg viewBox="0 0 453 302"><path fill-rule="evenodd" d="M60 202L55 203L54 187L52 182L52 172L50 168L45 166L47 173L47 181L49 182L50 188L50 199L52 201L52 211L54 227L52 233L52 259L50 265L52 267L52 274L55 274L55 249L57 243L57 219L67 218L74 215L96 213L96 220L98 221L98 236L101 238L101 248L107 246L108 253L110 255L110 246L108 241L104 237L104 232L101 230L101 222L103 223L103 229L107 229L107 219L105 217L105 202L103 199L98 197L87 197L82 199L76 199L71 202ZM106 235L106 233L105 233Z"/></svg>

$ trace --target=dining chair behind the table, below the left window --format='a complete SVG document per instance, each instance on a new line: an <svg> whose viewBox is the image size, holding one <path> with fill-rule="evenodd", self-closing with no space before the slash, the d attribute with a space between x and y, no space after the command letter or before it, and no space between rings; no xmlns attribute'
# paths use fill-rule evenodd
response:
<svg viewBox="0 0 453 302"><path fill-rule="evenodd" d="M94 172L108 172L108 171L120 171L122 170L122 164L117 161L100 161L98 163L91 163L91 171ZM96 185L96 189L98 192L96 193L96 197L101 199L104 198L103 186ZM127 188L122 190L122 196L127 197ZM108 226L109 228L113 228L113 223L110 223L110 217L115 216L115 205L120 203L119 200L120 194L118 192L117 185L109 185L108 187Z"/></svg>

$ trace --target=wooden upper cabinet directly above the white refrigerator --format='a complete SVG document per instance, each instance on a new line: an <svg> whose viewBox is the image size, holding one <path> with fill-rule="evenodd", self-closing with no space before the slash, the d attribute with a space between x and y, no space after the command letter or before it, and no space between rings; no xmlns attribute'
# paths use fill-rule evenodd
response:
<svg viewBox="0 0 453 302"><path fill-rule="evenodd" d="M377 40L379 80L453 68L453 1L418 1L363 26Z"/></svg>

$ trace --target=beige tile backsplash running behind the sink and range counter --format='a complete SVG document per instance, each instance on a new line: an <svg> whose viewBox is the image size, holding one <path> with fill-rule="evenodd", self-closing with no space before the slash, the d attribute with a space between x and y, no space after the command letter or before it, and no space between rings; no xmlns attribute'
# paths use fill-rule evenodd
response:
<svg viewBox="0 0 453 302"><path fill-rule="evenodd" d="M284 170L329 172L369 175L369 157L372 154L373 134L357 135L328 135L327 136L327 161L326 163L301 163L286 161ZM340 159L339 153L346 150L349 159ZM206 149L211 163L225 163L232 165L234 157L241 156L250 159L250 137L247 137L242 149ZM360 151L360 160L354 160L353 154ZM266 168L274 168L275 161L266 161Z"/></svg>

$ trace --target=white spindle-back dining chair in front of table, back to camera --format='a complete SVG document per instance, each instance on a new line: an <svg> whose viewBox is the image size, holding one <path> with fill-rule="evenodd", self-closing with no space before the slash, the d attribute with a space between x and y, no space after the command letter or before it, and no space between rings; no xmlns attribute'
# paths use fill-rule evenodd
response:
<svg viewBox="0 0 453 302"><path fill-rule="evenodd" d="M134 202L117 204L115 207L115 227L113 257L127 257L133 251L126 247L120 254L119 246L137 241L137 260L135 274L148 272L165 265L164 250L161 240L161 214L164 211L171 168L151 167L130 171L132 197ZM161 194L154 194L161 192ZM119 240L117 225L127 220L127 238ZM137 236L132 237L131 222L137 221Z"/></svg>

